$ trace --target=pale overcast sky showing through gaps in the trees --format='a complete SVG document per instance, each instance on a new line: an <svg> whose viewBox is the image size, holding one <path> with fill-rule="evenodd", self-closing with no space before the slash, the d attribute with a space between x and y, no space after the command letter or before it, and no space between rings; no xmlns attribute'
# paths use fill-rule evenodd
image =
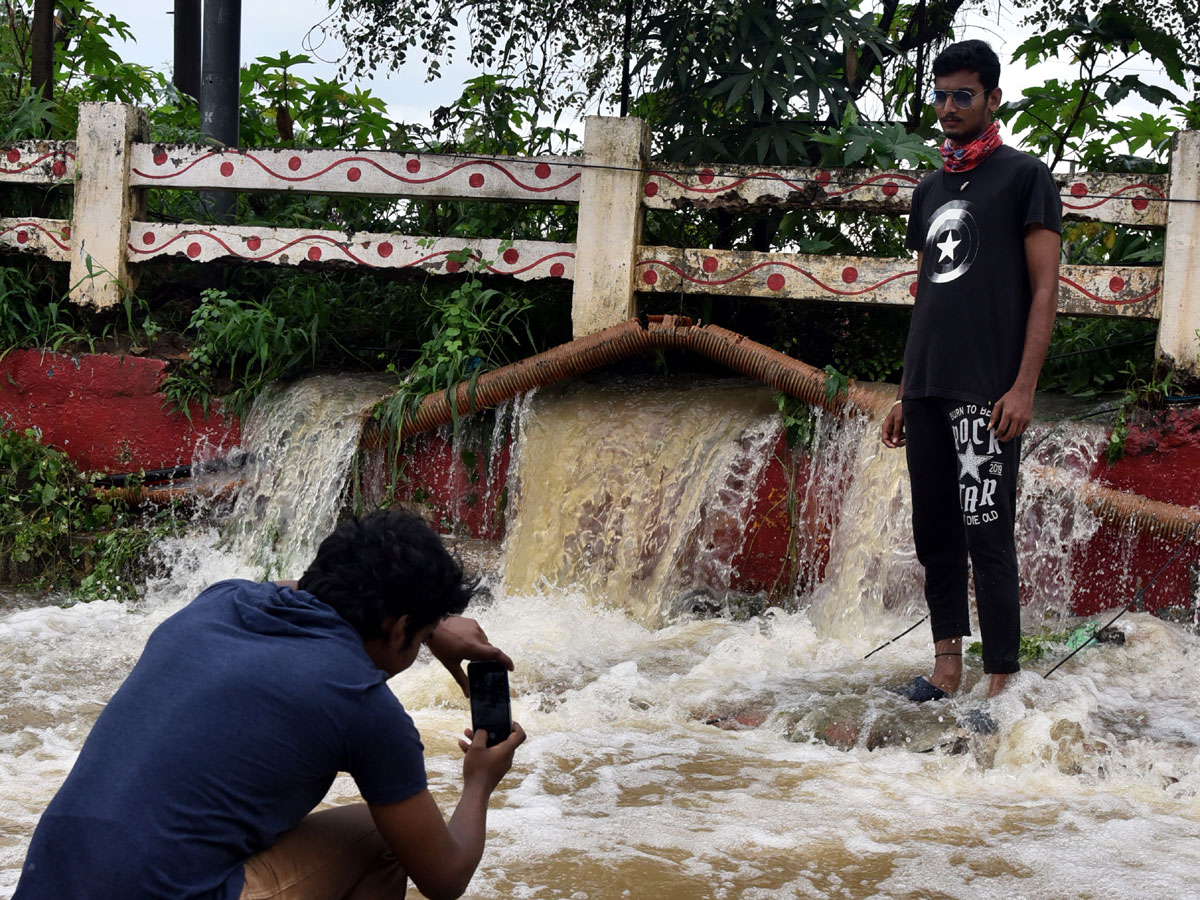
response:
<svg viewBox="0 0 1200 900"><path fill-rule="evenodd" d="M126 22L136 37L136 43L120 44L116 49L121 56L132 62L155 66L163 71L172 70L174 0L96 0L96 6L104 12L115 14ZM250 61L257 56L277 55L280 50L290 53L308 53L320 55L326 62L305 66L296 71L302 77L336 77L336 60L342 54L340 43L329 40L314 52L307 49L306 36L313 26L329 16L326 0L244 0L241 28L241 58ZM998 18L997 18L998 16ZM1001 86L1009 98L1015 100L1021 90L1045 78L1069 79L1074 67L1069 60L1044 64L1036 71L1022 71L1010 65L1013 52L1024 40L1014 11L1008 5L996 5L986 12L972 12L967 24L960 29L959 38L978 37L988 41L1004 64ZM466 38L460 40L460 55L466 52ZM1163 77L1152 62L1135 64L1140 77L1164 83ZM356 79L360 86L370 88L389 108L392 119L406 122L428 122L431 110L451 102L462 92L462 84L475 74L461 61L444 66L442 77L426 83L425 67L420 59L409 62L400 73L374 79ZM1122 112L1141 112L1146 104L1129 103ZM611 110L606 110L611 112ZM576 128L582 134L582 128Z"/></svg>

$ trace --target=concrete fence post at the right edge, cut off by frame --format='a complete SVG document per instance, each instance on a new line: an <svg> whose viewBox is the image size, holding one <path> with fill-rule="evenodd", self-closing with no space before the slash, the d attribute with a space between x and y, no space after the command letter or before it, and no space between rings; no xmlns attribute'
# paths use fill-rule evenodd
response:
<svg viewBox="0 0 1200 900"><path fill-rule="evenodd" d="M1171 145L1171 179L1163 241L1163 305L1158 355L1200 377L1200 131L1181 131Z"/></svg>

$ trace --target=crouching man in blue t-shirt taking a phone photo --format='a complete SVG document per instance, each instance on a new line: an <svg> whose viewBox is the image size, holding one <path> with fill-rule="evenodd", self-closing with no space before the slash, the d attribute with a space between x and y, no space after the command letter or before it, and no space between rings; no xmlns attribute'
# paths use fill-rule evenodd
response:
<svg viewBox="0 0 1200 900"><path fill-rule="evenodd" d="M460 740L446 822L388 679L421 644L512 661L458 614L475 583L416 516L342 522L299 584L226 581L163 622L34 834L13 900L457 898L524 740ZM312 810L348 772L365 804Z"/></svg>

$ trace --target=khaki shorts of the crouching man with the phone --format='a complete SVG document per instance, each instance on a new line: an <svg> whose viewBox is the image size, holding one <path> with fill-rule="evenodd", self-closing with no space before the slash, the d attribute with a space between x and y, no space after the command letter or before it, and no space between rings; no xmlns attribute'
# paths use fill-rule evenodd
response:
<svg viewBox="0 0 1200 900"><path fill-rule="evenodd" d="M247 859L241 900L402 898L407 883L367 805L354 803L305 816Z"/></svg>

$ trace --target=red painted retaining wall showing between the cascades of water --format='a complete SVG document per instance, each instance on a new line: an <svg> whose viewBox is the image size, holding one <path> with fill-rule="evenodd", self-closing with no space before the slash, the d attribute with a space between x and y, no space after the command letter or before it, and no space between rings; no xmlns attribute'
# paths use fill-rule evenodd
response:
<svg viewBox="0 0 1200 900"><path fill-rule="evenodd" d="M13 350L0 360L0 418L10 427L37 426L43 440L66 452L80 468L125 473L192 462L198 448L222 456L240 443L240 422L220 412L205 418L193 408L192 421L168 412L160 394L167 364L136 356L80 355ZM395 481L398 499L420 506L445 532L499 540L504 535L504 484L509 448L490 461L490 448L468 439L451 448L438 433L408 443ZM793 535L787 515L788 481L803 493L804 460L791 463L786 448L773 452L754 500L750 534L736 557L734 590L780 596L799 578L823 577L829 557L828 521L800 522ZM390 467L376 467L374 487L392 482ZM1182 506L1200 505L1200 410L1170 410L1130 430L1127 452L1114 466L1103 461L1092 474L1100 484ZM378 496L378 493L377 493ZM731 546L742 535L714 532ZM1200 536L1200 535L1198 535ZM794 538L794 540L793 540ZM1092 540L1072 551L1079 613L1117 608L1134 599L1184 544L1103 526ZM1200 541L1192 541L1145 592L1150 610L1187 606L1194 594ZM1037 586L1025 584L1025 590Z"/></svg>

